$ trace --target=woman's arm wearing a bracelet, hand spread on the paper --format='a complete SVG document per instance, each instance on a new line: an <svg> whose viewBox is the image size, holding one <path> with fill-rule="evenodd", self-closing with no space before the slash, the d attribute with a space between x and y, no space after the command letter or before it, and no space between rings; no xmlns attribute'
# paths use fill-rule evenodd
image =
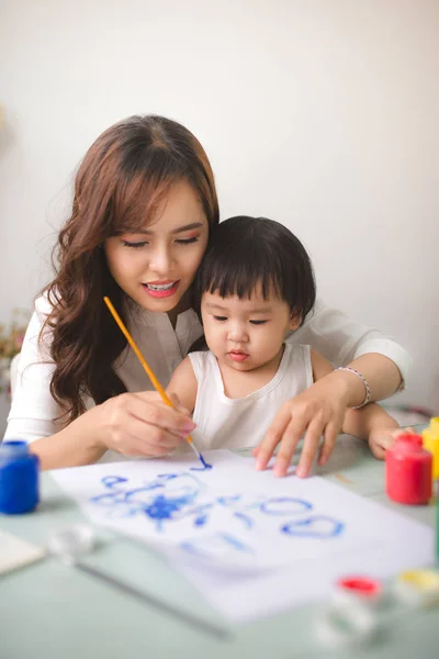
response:
<svg viewBox="0 0 439 659"><path fill-rule="evenodd" d="M368 381L372 401L402 389L410 367L408 354L397 343L376 330L354 323L322 302L316 303L302 327L288 340L309 344L333 366L356 369ZM347 409L360 405L364 398L364 384L356 373L346 370L327 373L279 410L256 451L257 468L264 469L277 445L285 442L292 450L279 451L275 461L277 473L284 476L303 434L305 444L313 447L324 436L324 450L318 460L319 465L324 465L341 429ZM299 476L309 472L311 453L302 453L296 470Z"/></svg>

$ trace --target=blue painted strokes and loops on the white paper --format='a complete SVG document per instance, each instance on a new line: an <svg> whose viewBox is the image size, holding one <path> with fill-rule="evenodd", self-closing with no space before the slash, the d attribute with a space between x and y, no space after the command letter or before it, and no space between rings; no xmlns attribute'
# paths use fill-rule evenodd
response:
<svg viewBox="0 0 439 659"><path fill-rule="evenodd" d="M273 523L275 521L278 533L292 540L328 540L340 536L345 529L344 522L317 514L313 504L304 499L239 492L211 495L207 487L191 470L159 473L137 487L133 487L124 477L105 476L101 480L103 493L91 498L90 502L105 507L109 517L143 516L159 533L165 533L170 524L189 521L194 533L180 547L198 555L217 556L229 551L252 554L249 538L260 527L264 516L272 518ZM212 516L221 511L229 514L227 528L211 532ZM233 521L236 522L235 533L230 530ZM240 534L245 535L245 540L239 537Z"/></svg>

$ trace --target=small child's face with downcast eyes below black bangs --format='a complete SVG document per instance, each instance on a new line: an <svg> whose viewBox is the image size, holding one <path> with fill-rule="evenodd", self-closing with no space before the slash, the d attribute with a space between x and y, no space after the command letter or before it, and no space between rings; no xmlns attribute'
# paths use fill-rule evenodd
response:
<svg viewBox="0 0 439 659"><path fill-rule="evenodd" d="M201 314L209 348L222 364L240 371L278 358L289 331L300 325L286 302L274 295L264 300L261 290L241 300L203 293Z"/></svg>

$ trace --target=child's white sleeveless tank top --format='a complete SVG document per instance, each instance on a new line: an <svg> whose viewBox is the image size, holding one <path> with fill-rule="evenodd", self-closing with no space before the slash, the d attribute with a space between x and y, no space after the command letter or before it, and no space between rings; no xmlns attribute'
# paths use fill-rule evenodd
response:
<svg viewBox="0 0 439 659"><path fill-rule="evenodd" d="M200 450L256 446L270 427L281 404L313 384L309 346L286 343L275 376L241 399L224 393L216 357L190 353L198 381L192 437Z"/></svg>

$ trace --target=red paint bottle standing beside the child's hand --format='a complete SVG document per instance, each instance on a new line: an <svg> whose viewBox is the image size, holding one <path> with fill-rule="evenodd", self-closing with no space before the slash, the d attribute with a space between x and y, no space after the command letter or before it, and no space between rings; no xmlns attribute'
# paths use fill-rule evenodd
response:
<svg viewBox="0 0 439 659"><path fill-rule="evenodd" d="M432 494L432 456L415 433L396 437L385 455L385 491L398 503L428 503Z"/></svg>

